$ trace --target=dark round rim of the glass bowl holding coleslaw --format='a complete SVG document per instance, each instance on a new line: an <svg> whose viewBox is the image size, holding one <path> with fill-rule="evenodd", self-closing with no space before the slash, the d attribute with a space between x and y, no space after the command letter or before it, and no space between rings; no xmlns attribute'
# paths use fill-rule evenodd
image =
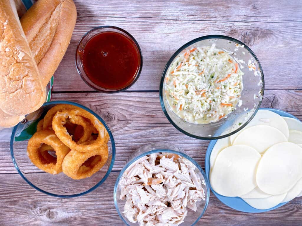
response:
<svg viewBox="0 0 302 226"><path fill-rule="evenodd" d="M188 133L187 131L183 130L182 128L178 127L174 121L170 118L169 114L167 113L166 111L166 108L165 108L165 104L164 104L164 101L163 101L163 95L162 95L162 91L163 91L163 84L164 84L164 81L165 81L165 75L169 69L169 66L170 64L173 62L173 60L177 57L177 55L182 52L185 48L187 48L188 46L191 46L192 44L194 44L195 42L199 42L199 41L202 41L202 40L207 40L207 39L226 39L226 40L229 40L229 41L232 41L232 42L236 42L238 43L239 45L243 45L244 48L246 50L248 50L251 55L255 58L255 60L258 62L259 64L259 69L260 69L260 72L261 72L261 80L262 80L262 89L261 89L261 100L259 101L257 107L255 108L255 111L254 113L249 117L249 119L243 123L241 126L239 126L239 128L237 128L236 130L234 130L233 132L230 132L230 133L227 133L223 136L217 136L217 137L200 137L200 136L197 136L197 135L193 135L191 133ZM229 37L229 36L224 36L224 35L206 35L206 36L201 36L199 38L196 38L196 39L193 39L187 43L185 43L182 47L180 47L172 56L171 58L169 59L169 61L167 62L167 64L165 65L165 69L164 71L162 72L162 77L161 77L161 80L160 80L160 85L159 85L159 99L160 99L160 105L162 106L162 111L164 112L166 118L169 120L169 122L180 132L184 133L185 135L189 136L189 137L193 137L193 138L196 138L196 139L200 139L200 140L217 140L217 139L221 139L221 138L225 138L225 137L229 137L231 135L233 135L234 133L237 133L238 131L242 130L247 124L249 124L249 122L254 118L254 116L256 115L257 111L259 110L260 108L260 105L262 103L262 99L263 99L263 96L264 96L264 74L263 74L263 70L262 70L262 66L260 64L260 61L259 59L257 58L257 56L255 55L255 53L248 47L246 46L246 44L244 44L243 42L237 40L237 39L234 39L232 37ZM202 124L201 124L202 125Z"/></svg>

